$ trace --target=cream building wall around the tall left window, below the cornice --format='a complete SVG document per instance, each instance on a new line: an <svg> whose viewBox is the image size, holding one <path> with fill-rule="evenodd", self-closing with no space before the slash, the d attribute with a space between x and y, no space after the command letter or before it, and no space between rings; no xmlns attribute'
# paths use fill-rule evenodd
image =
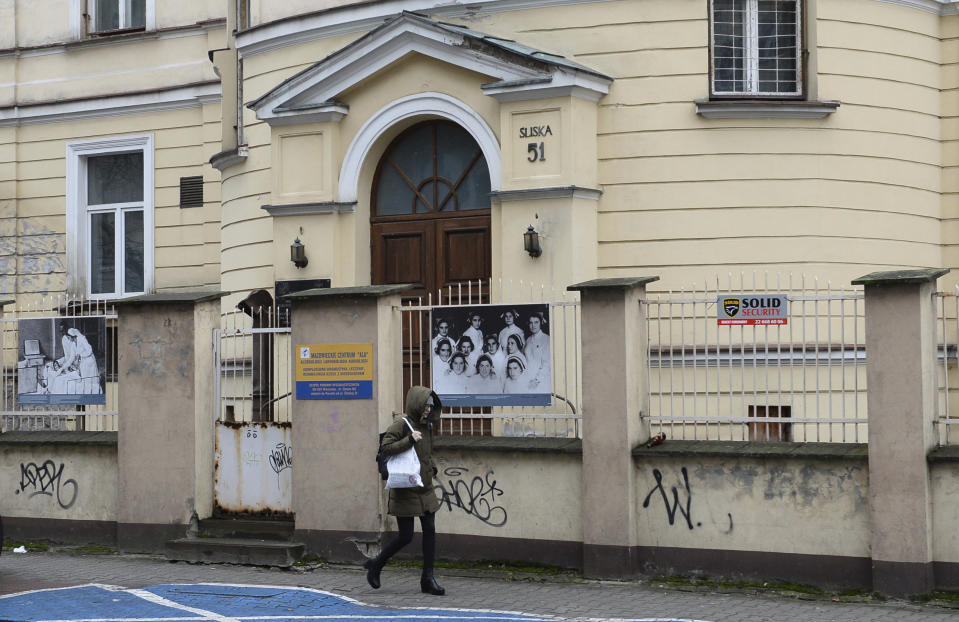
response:
<svg viewBox="0 0 959 622"><path fill-rule="evenodd" d="M0 292L62 292L66 285L66 148L69 142L152 134L154 139L155 285L219 284L219 184L206 165L219 140L219 104L109 119L2 128ZM7 142L9 141L9 142ZM16 146L14 143L17 143ZM181 209L179 179L202 175L204 206ZM9 180L9 181L6 181ZM16 200L13 199L16 197Z"/></svg>

